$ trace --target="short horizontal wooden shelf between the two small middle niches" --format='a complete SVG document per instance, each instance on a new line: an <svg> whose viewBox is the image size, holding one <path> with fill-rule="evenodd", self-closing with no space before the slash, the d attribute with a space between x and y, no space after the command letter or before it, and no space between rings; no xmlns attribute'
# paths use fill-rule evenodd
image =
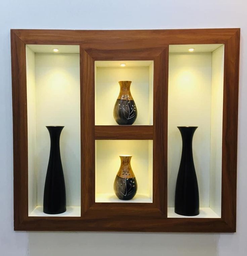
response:
<svg viewBox="0 0 247 256"><path fill-rule="evenodd" d="M95 125L95 140L152 140L153 125Z"/></svg>

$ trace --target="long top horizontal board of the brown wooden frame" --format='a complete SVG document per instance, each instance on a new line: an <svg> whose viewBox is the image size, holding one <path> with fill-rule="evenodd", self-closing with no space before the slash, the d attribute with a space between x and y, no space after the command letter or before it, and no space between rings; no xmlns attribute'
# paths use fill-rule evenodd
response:
<svg viewBox="0 0 247 256"><path fill-rule="evenodd" d="M124 49L176 44L224 44L238 28L167 30L47 30L14 29L25 44L82 45L85 49ZM92 55L91 55L92 56ZM92 56L94 57L94 56Z"/></svg>

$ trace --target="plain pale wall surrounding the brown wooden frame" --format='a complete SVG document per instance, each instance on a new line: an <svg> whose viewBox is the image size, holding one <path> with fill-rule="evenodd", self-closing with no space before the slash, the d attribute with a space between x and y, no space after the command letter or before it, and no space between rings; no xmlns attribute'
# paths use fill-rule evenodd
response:
<svg viewBox="0 0 247 256"><path fill-rule="evenodd" d="M0 248L8 255L246 256L247 3L242 0L0 2ZM241 27L238 207L235 234L14 232L10 28L164 29ZM123 241L125 241L123 243Z"/></svg>

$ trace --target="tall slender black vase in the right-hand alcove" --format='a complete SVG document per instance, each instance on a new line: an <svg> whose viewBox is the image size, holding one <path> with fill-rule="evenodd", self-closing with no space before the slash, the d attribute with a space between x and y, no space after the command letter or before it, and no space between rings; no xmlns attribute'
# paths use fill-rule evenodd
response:
<svg viewBox="0 0 247 256"><path fill-rule="evenodd" d="M184 216L199 214L199 191L193 161L192 139L197 126L179 126L182 155L175 191L175 212Z"/></svg>

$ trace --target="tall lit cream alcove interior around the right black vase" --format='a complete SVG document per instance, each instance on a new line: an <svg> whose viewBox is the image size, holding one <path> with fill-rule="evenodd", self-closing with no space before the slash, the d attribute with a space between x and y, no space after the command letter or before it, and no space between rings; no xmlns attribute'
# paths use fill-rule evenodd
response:
<svg viewBox="0 0 247 256"><path fill-rule="evenodd" d="M198 126L193 158L200 214L195 217L221 217L223 73L224 45L169 46L168 218L187 217L174 212L182 151L177 126Z"/></svg>

